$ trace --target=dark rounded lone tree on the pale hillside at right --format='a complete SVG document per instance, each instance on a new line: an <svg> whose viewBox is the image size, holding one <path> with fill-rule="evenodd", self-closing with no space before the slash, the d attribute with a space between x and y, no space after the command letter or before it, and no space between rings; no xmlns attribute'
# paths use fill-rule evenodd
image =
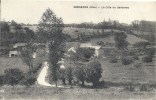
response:
<svg viewBox="0 0 156 100"><path fill-rule="evenodd" d="M127 49L129 43L126 38L127 35L124 32L116 33L114 37L115 47L120 50Z"/></svg>

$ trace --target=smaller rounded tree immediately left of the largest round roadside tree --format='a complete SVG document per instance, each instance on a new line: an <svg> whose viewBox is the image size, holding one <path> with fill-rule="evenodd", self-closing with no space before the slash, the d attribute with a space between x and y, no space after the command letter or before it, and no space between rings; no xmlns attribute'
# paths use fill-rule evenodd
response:
<svg viewBox="0 0 156 100"><path fill-rule="evenodd" d="M78 81L82 82L82 86L85 85L84 84L84 81L85 81L85 68L86 68L86 66L80 65L80 66L75 67L74 72L73 72L76 79Z"/></svg>

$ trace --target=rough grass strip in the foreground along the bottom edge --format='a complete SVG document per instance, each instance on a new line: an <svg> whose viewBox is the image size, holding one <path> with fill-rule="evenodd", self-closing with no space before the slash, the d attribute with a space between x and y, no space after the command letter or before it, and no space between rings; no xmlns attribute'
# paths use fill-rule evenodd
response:
<svg viewBox="0 0 156 100"><path fill-rule="evenodd" d="M129 92L122 87L108 87L105 89L88 88L50 88L32 86L1 87L5 90L0 93L4 99L35 99L35 100L155 100L154 91L150 92Z"/></svg>

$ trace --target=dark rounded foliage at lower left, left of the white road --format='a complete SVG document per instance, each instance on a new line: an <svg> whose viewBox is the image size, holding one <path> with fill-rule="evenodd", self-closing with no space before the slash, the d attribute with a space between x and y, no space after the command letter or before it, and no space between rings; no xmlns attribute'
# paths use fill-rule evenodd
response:
<svg viewBox="0 0 156 100"><path fill-rule="evenodd" d="M17 68L6 69L4 71L4 76L5 76L5 84L9 84L11 86L19 84L20 81L24 78L23 72Z"/></svg>

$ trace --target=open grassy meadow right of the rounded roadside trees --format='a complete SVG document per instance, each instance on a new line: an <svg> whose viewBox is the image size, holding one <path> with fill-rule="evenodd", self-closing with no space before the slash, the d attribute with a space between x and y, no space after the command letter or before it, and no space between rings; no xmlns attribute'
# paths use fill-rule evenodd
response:
<svg viewBox="0 0 156 100"><path fill-rule="evenodd" d="M111 82L131 82L136 83L156 83L156 67L154 62L150 64L142 63L141 61L135 61L142 63L139 68L131 69L131 65L122 65L118 63L110 63L106 60L99 60L102 64L103 73L102 79Z"/></svg>

